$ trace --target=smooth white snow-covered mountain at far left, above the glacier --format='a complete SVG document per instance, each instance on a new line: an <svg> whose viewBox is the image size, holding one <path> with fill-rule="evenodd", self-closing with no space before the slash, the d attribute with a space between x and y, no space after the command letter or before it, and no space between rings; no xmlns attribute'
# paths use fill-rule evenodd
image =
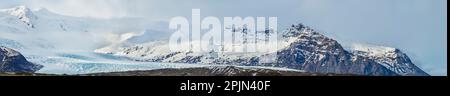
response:
<svg viewBox="0 0 450 96"><path fill-rule="evenodd" d="M165 26L168 26L165 22L140 18L71 17L53 13L45 8L17 6L0 9L0 44L13 49L17 47L16 50L21 52L24 51L22 49L27 51L30 48L92 51L90 49L117 42L117 34L137 34L142 30L163 33L161 31L168 28ZM70 43L65 39L70 40Z"/></svg>

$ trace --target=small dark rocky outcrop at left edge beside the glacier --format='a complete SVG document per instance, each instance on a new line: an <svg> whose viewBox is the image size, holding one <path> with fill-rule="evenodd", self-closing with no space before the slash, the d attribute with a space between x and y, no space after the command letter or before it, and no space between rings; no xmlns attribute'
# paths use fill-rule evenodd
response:
<svg viewBox="0 0 450 96"><path fill-rule="evenodd" d="M28 62L19 52L0 46L0 72L32 73L42 67L42 65Z"/></svg>

